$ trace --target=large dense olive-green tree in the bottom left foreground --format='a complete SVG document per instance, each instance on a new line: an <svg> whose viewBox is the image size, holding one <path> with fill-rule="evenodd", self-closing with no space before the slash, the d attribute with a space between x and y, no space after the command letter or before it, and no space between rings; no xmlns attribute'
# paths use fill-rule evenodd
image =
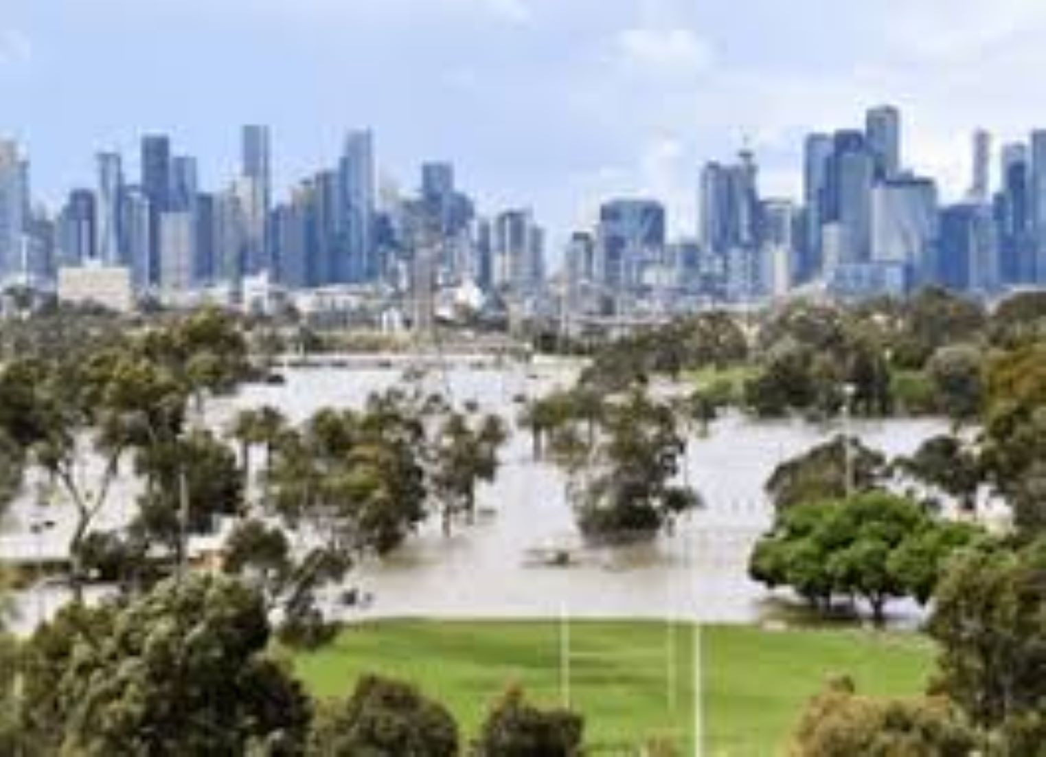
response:
<svg viewBox="0 0 1046 757"><path fill-rule="evenodd" d="M25 728L62 754L299 754L310 702L268 641L257 595L220 576L69 605L28 643Z"/></svg>

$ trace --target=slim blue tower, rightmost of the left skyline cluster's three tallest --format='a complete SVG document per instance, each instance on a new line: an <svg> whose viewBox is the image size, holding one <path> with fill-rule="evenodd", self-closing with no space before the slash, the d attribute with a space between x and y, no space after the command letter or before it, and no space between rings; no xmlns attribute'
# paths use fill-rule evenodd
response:
<svg viewBox="0 0 1046 757"><path fill-rule="evenodd" d="M345 137L338 189L336 228L346 245L336 260L335 280L370 280L378 274L378 261L373 249L373 137L369 130L353 131Z"/></svg>

